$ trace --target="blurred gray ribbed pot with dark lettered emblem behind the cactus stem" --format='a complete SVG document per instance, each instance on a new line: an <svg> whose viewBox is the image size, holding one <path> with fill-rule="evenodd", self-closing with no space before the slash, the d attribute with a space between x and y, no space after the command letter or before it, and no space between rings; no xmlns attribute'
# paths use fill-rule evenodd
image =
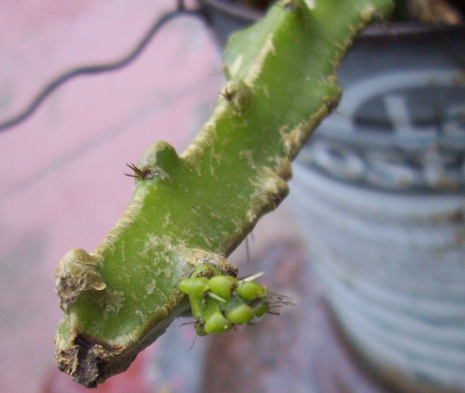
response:
<svg viewBox="0 0 465 393"><path fill-rule="evenodd" d="M199 0L221 45L260 12ZM347 340L389 385L465 392L465 26L375 26L290 196Z"/></svg>

